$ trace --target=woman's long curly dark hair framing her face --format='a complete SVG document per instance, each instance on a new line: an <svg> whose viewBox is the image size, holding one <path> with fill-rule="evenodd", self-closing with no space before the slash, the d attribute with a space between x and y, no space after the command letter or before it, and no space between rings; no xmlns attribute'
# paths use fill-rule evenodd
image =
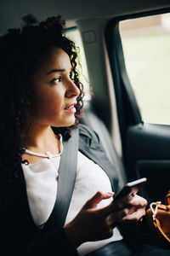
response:
<svg viewBox="0 0 170 256"><path fill-rule="evenodd" d="M30 127L31 76L37 68L37 61L42 55L48 55L52 47L59 47L69 55L71 79L80 90L75 125L54 128L54 132L68 139L71 128L78 125L82 114L83 86L77 72L77 47L65 37L65 21L57 16L39 24L8 29L0 37L0 178L11 180L17 177L15 166L21 162Z"/></svg>

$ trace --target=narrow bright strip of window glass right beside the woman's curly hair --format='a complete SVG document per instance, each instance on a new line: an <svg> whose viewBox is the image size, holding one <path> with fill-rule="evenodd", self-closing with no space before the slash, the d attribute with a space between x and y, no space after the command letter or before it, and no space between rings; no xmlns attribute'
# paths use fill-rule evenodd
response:
<svg viewBox="0 0 170 256"><path fill-rule="evenodd" d="M76 27L70 28L66 30L66 36L70 38L77 46L77 51L79 53L79 64L77 66L77 70L80 73L80 80L84 86L84 100L88 100L88 97L90 97L89 92L89 83L88 83L88 68L87 68L87 62L84 54L84 49L82 45L82 38L80 35L80 32Z"/></svg>

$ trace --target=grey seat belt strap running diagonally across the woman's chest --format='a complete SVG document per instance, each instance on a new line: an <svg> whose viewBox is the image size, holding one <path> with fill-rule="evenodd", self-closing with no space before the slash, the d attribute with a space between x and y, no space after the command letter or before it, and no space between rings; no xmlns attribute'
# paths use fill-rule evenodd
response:
<svg viewBox="0 0 170 256"><path fill-rule="evenodd" d="M59 180L57 198L54 209L44 224L42 232L49 232L64 226L65 218L71 204L75 180L77 176L77 153L79 144L79 131L71 131L71 138L63 142L63 154L59 162Z"/></svg>

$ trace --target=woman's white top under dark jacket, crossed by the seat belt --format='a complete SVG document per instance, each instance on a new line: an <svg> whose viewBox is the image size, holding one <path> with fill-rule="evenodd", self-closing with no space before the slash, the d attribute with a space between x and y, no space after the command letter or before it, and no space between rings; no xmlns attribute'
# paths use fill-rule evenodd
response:
<svg viewBox="0 0 170 256"><path fill-rule="evenodd" d="M35 164L22 164L31 215L37 225L44 224L53 210L57 194L59 160L60 156L48 158L46 155L46 158ZM65 224L76 217L85 202L94 196L97 191L104 193L112 191L109 177L94 161L78 152L76 183ZM100 201L98 207L105 207L111 201L112 198ZM85 242L77 248L77 251L79 255L84 255L108 242L121 239L122 236L119 230L115 228L111 238Z"/></svg>

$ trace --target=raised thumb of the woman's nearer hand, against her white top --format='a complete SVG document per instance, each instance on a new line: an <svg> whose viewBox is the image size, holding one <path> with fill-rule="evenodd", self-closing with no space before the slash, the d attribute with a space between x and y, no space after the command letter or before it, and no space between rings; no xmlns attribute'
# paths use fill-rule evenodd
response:
<svg viewBox="0 0 170 256"><path fill-rule="evenodd" d="M100 201L108 199L114 194L115 193L113 192L102 193L98 191L90 200L87 201L87 203L84 205L84 208L96 208Z"/></svg>

